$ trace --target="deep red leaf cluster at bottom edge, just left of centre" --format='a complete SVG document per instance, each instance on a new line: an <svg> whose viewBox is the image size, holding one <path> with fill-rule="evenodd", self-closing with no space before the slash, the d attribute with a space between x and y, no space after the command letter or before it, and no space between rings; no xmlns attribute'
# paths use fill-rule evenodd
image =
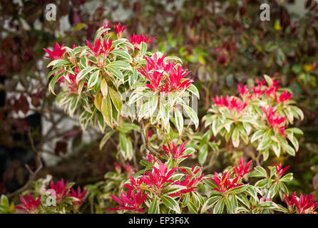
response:
<svg viewBox="0 0 318 228"><path fill-rule="evenodd" d="M111 195L111 197L113 200L118 202L119 205L111 209L106 209L106 211L118 211L120 209L126 209L130 211L145 212L145 210L140 207L147 197L147 194L143 195L143 192L138 192L138 194L135 195L135 192L128 189L127 195L125 195L125 192L121 190L120 198L116 197L116 195Z"/></svg>

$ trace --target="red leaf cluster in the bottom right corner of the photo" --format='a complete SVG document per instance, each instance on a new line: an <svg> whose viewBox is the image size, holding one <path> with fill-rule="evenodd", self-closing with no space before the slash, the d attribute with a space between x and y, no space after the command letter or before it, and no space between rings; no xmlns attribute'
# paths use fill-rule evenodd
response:
<svg viewBox="0 0 318 228"><path fill-rule="evenodd" d="M318 207L318 202L314 202L314 195L302 195L299 199L296 197L296 192L293 192L290 198L285 193L285 199L283 201L287 204L289 212L295 206L299 214L313 214Z"/></svg>

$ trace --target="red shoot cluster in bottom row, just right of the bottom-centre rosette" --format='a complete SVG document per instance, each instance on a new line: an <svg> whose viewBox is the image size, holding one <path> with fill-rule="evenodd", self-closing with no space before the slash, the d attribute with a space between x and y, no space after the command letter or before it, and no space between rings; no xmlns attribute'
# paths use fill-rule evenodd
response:
<svg viewBox="0 0 318 228"><path fill-rule="evenodd" d="M202 173L200 177L196 176L198 172L202 171L201 167L198 167L197 169L196 167L198 167L198 165L193 166L190 173L187 170L179 167L179 170L181 170L185 174L185 180L183 182L176 181L175 185L185 186L186 189L180 190L179 192L171 194L170 195L171 197L179 196L180 194L184 194L187 192L193 192L195 191L195 189L198 188L197 186L200 182L207 179L207 178L203 178L204 173Z"/></svg>

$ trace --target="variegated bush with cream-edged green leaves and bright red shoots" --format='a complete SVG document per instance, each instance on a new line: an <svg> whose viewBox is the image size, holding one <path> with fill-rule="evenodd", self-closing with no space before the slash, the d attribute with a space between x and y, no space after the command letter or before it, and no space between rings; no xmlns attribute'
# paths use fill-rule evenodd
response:
<svg viewBox="0 0 318 228"><path fill-rule="evenodd" d="M116 38L108 33L109 24L103 24L96 31L94 45L87 41L88 46L68 48L56 43L53 52L46 50L48 58L53 59L48 64L52 67L48 73L51 78L48 89L54 93L56 83L61 83L57 102L69 115L78 114L83 130L91 123L105 134L100 147L118 130L118 155L123 160L135 161L138 156L129 135L131 131L141 135L144 150L140 152L146 158L140 163L145 168L138 172L130 168L129 178L124 178L124 184L120 185L120 196L111 195L118 204L107 211L312 213L317 209L313 195L296 197L294 192L289 199L285 185L293 178L292 173L285 174L289 167L275 164L268 167L270 174L267 174L259 165L260 155L264 162L272 152L277 157L294 156L299 148L295 135L302 135L302 131L287 125L304 116L302 110L293 105L289 90L280 88L279 81L270 76L257 81L257 86L252 88L238 85L241 98L228 95L213 98L215 104L202 118L204 133L198 135L191 128L185 128L180 110L183 108L197 129L198 116L186 103L190 96L199 97L193 80L186 78L190 72L183 69L177 57L147 52L147 43L151 41L148 36L133 36L128 41L122 38L125 27L115 26ZM128 92L128 99L123 100ZM205 164L208 147L215 153L222 150L220 143L212 140L217 135L221 141L231 143L233 149L242 144L255 147L258 165L252 170L252 160L244 164L241 157L237 165L214 175L205 175L203 167L190 165L191 161L187 161L195 157L195 145L200 144L200 165ZM184 138L188 144L181 143ZM128 167L126 165L126 170ZM254 184L253 177L257 177ZM119 171L110 178L122 179ZM87 190L81 193L78 188L77 193L73 189L70 192L70 187L63 180L56 185L51 182L56 207L40 207L41 195L36 200L28 195L27 202L21 197L25 207L19 208L29 213L78 212ZM285 207L279 202L284 202ZM73 208L68 207L70 204Z"/></svg>

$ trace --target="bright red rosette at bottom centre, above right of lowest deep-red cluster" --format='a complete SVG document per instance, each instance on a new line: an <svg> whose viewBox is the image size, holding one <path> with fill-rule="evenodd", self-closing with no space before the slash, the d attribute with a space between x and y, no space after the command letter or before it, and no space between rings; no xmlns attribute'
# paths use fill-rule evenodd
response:
<svg viewBox="0 0 318 228"><path fill-rule="evenodd" d="M165 188L165 184L167 182L173 182L170 180L173 172L177 170L177 167L168 171L167 162L162 163L159 160L159 168L153 166L153 172L145 171L143 177L140 178L146 185L149 185L150 188L156 187L157 192L160 192L163 188Z"/></svg>

